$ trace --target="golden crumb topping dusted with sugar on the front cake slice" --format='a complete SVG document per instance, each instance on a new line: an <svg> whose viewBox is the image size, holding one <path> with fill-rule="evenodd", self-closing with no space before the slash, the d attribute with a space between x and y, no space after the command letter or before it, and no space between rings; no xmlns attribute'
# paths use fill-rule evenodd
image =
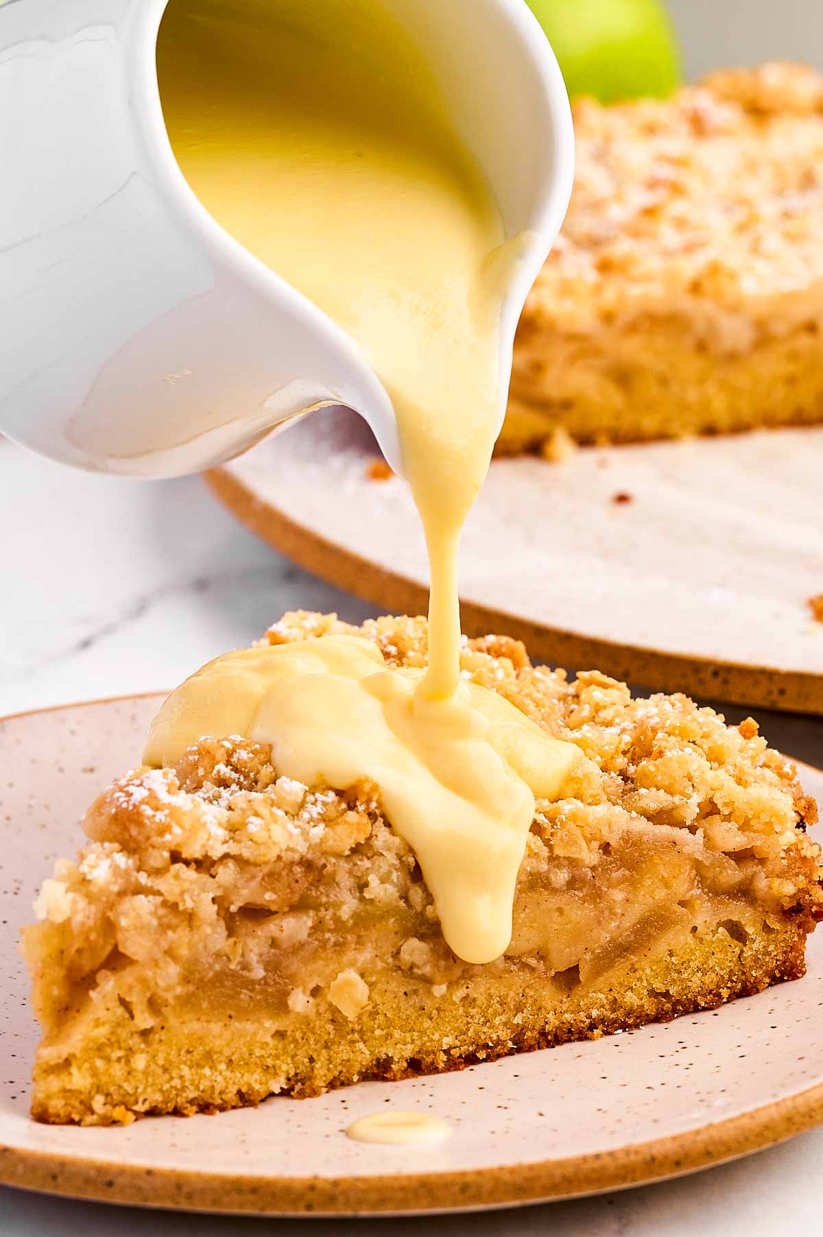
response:
<svg viewBox="0 0 823 1237"><path fill-rule="evenodd" d="M295 611L266 640L328 633L366 636L392 666L426 661L423 618L384 616L353 627L335 615ZM756 836L765 854L793 845L797 826L816 819L793 764L769 748L752 719L726 726L679 694L634 699L598 670L569 680L564 670L533 667L509 637L464 640L462 673L588 757L569 774L563 799L538 800L538 836L562 834L575 820L582 836L599 837L594 809L601 809L609 828L687 829L702 845L722 836L719 850ZM374 785L308 788L278 776L270 756L267 745L250 740L204 737L176 768L137 769L115 783L92 807L85 830L97 842L139 852L151 871L167 866L170 852L252 865L342 856L371 837L377 821L385 825ZM407 847L395 839L391 850Z"/></svg>

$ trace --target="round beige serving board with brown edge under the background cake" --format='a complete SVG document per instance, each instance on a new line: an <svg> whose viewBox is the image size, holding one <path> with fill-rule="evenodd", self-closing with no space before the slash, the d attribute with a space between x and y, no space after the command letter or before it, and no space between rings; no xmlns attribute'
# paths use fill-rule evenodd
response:
<svg viewBox="0 0 823 1237"><path fill-rule="evenodd" d="M427 602L406 485L344 409L212 473L252 532L386 611ZM495 460L463 541L469 635L661 690L823 714L823 427Z"/></svg>

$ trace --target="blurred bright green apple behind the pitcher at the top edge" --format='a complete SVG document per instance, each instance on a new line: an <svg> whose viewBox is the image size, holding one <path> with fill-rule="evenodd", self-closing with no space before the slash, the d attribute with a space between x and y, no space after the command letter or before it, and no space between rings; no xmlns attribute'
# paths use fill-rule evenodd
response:
<svg viewBox="0 0 823 1237"><path fill-rule="evenodd" d="M681 80L674 31L661 0L528 0L572 99L665 98Z"/></svg>

